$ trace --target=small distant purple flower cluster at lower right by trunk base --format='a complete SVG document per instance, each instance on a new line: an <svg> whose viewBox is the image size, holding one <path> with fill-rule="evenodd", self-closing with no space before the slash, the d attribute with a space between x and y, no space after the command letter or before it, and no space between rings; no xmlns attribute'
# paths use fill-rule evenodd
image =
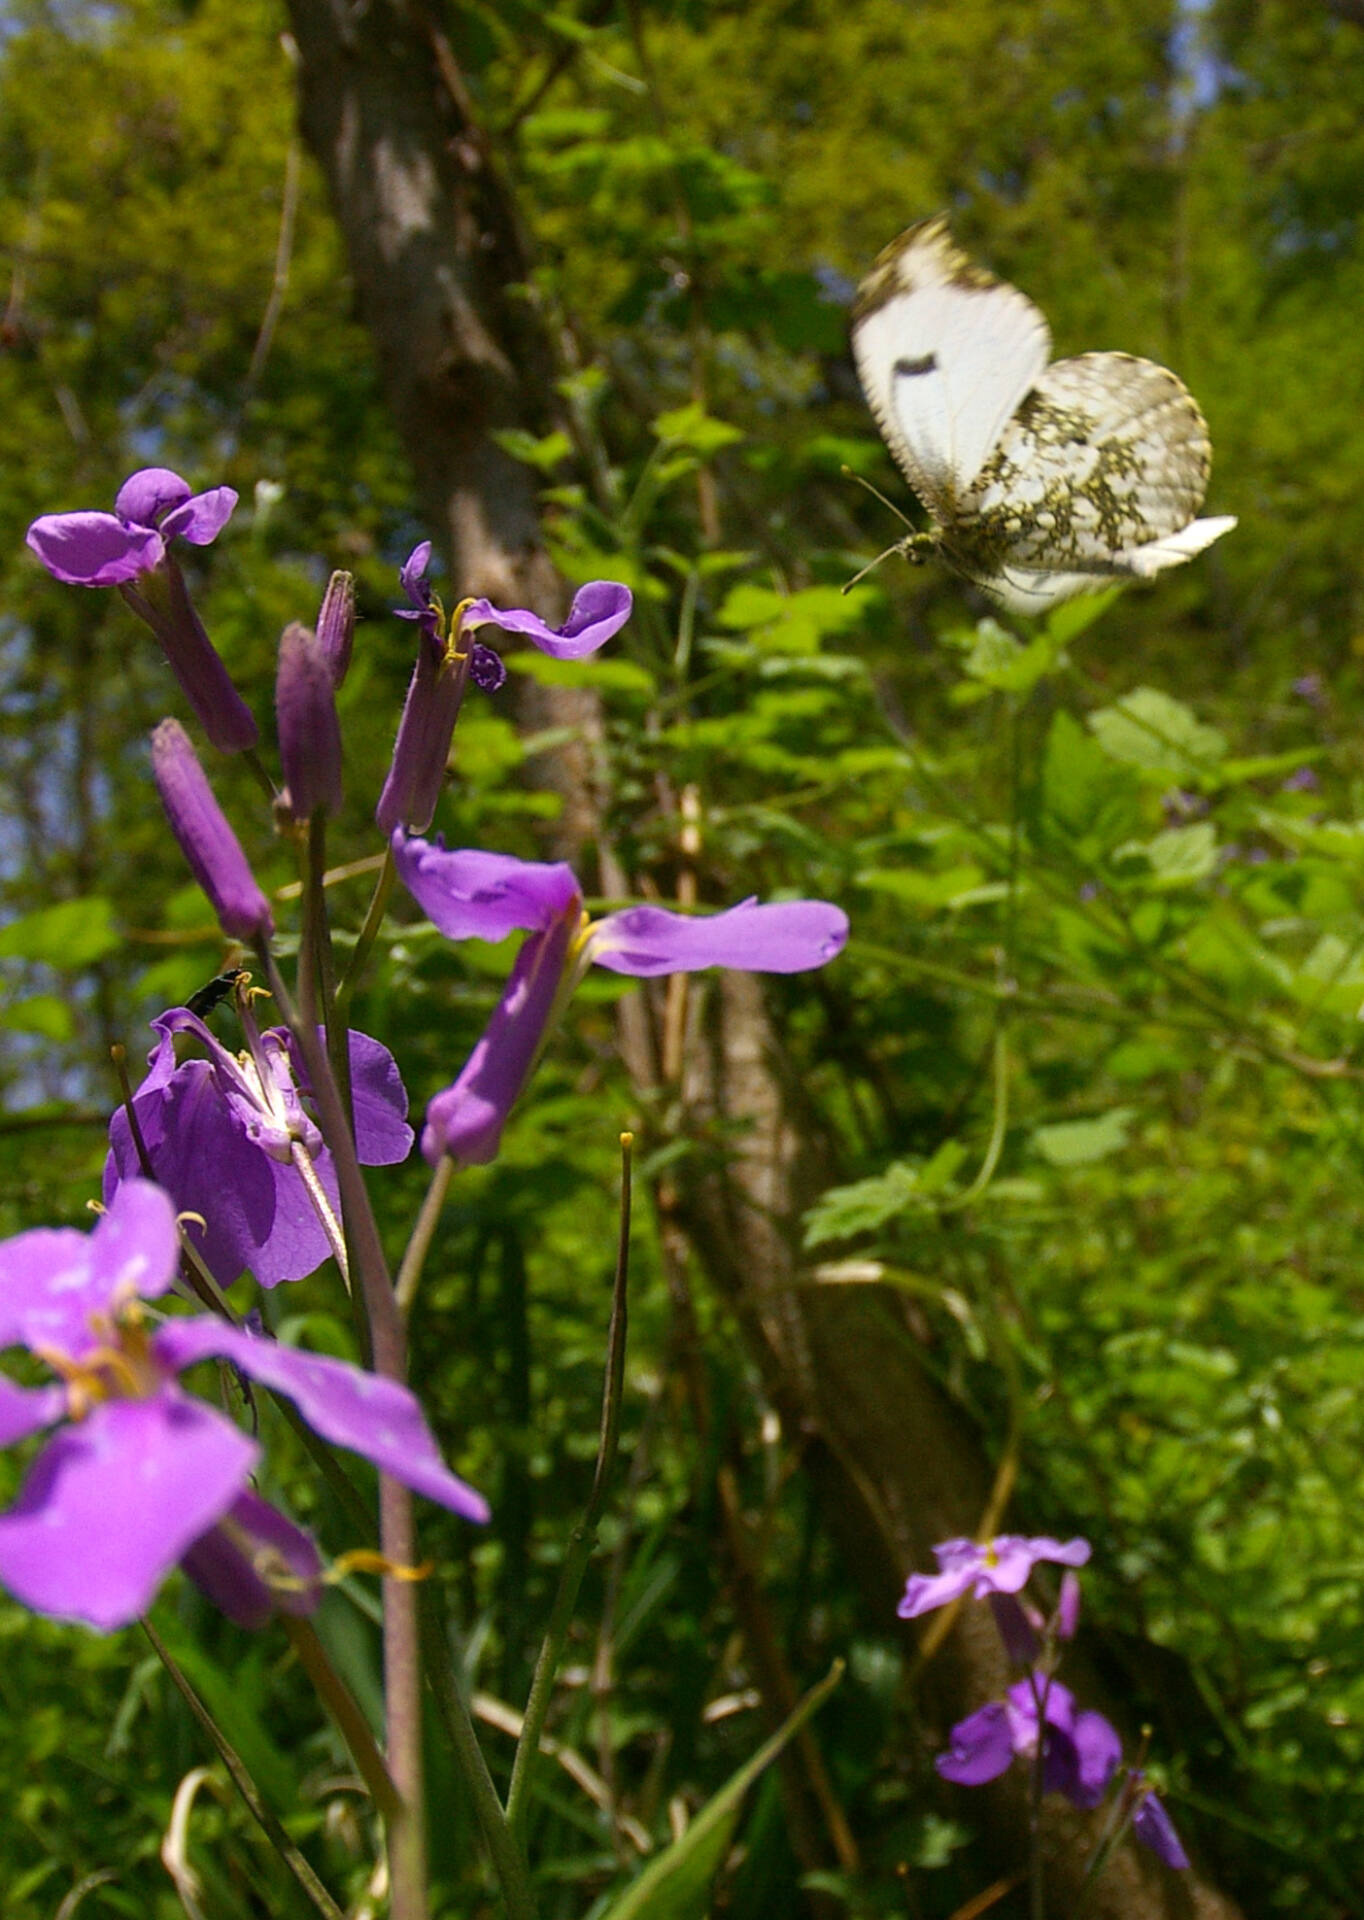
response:
<svg viewBox="0 0 1364 1920"><path fill-rule="evenodd" d="M959 1786L984 1786L1014 1761L1034 1768L1041 1743L1043 1791L1062 1793L1072 1807L1097 1807L1122 1764L1122 1740L1101 1713L1078 1707L1070 1688L1055 1678L1059 1645L1076 1632L1078 1578L1074 1571L1064 1574L1051 1617L1018 1597L1034 1567L1043 1561L1066 1569L1084 1567L1089 1542L999 1534L989 1542L943 1540L934 1548L934 1557L936 1574L909 1576L899 1617L913 1620L959 1599L987 1599L1005 1651L1026 1668L1024 1678L1003 1699L987 1701L951 1728L947 1751L936 1761L938 1772ZM1132 1822L1137 1839L1168 1866L1187 1866L1189 1857L1170 1814L1137 1770L1126 1774L1120 1795L1120 1816Z"/></svg>

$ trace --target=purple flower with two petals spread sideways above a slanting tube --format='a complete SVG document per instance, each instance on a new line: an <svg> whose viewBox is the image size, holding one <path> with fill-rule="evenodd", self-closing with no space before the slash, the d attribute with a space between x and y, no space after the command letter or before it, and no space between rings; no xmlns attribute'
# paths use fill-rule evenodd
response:
<svg viewBox="0 0 1364 1920"><path fill-rule="evenodd" d="M465 1069L426 1108L421 1150L432 1165L442 1154L461 1165L484 1165L496 1156L553 1016L594 962L636 977L707 966L799 973L824 966L847 941L847 914L826 900L743 900L707 918L626 906L588 922L578 881L563 864L455 852L440 839L402 833L392 845L403 885L450 939L528 933Z"/></svg>

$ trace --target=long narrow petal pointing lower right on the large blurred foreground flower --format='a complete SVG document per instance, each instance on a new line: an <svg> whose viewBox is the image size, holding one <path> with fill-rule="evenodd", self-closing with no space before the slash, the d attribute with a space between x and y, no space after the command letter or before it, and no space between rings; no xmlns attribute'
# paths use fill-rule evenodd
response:
<svg viewBox="0 0 1364 1920"><path fill-rule="evenodd" d="M232 1359L261 1386L288 1394L323 1440L363 1453L380 1473L451 1513L469 1521L488 1519L488 1503L450 1473L415 1396L396 1380L363 1373L344 1359L261 1340L215 1319L167 1321L154 1338L154 1352L177 1369L211 1354Z"/></svg>

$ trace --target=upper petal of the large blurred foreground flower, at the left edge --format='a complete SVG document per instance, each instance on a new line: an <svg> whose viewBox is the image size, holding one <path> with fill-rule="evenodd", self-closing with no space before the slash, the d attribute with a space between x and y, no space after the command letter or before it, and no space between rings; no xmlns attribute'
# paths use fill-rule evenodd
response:
<svg viewBox="0 0 1364 1920"><path fill-rule="evenodd" d="M102 1344L92 1319L131 1298L156 1300L175 1279L179 1258L175 1210L142 1179L119 1190L94 1233L21 1233L0 1246L0 1346L48 1346L79 1357Z"/></svg>

